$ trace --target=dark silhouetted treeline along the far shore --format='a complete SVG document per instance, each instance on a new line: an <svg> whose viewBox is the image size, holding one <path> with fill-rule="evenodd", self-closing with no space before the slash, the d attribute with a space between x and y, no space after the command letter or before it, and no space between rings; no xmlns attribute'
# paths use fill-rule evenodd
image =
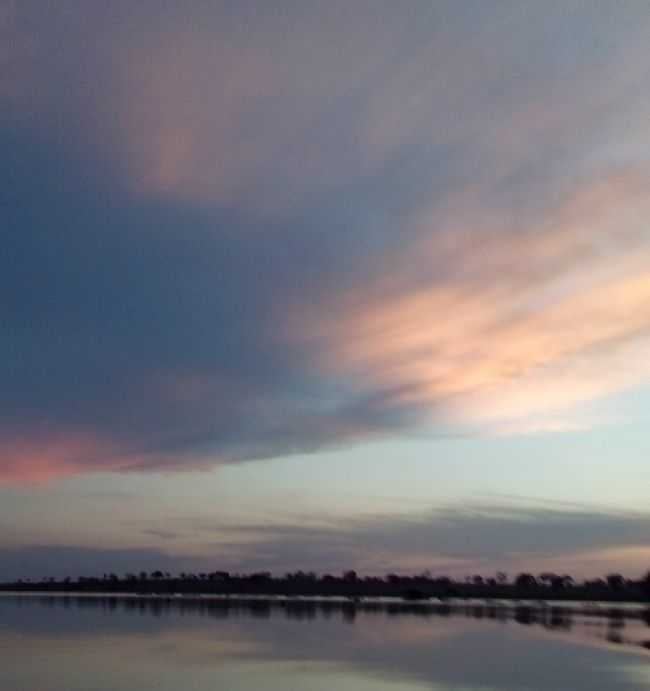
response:
<svg viewBox="0 0 650 691"><path fill-rule="evenodd" d="M2 583L0 591L650 602L650 572L638 580L612 573L604 578L576 582L566 574L550 572L538 576L520 573L512 580L501 572L489 578L474 575L464 580L452 580L428 572L417 576L388 574L380 578L360 576L355 571L346 571L340 576L296 571L283 577L274 577L266 571L251 574L213 571L177 576L163 571L141 571L123 576L106 573L101 577L62 580L47 577L25 579Z"/></svg>

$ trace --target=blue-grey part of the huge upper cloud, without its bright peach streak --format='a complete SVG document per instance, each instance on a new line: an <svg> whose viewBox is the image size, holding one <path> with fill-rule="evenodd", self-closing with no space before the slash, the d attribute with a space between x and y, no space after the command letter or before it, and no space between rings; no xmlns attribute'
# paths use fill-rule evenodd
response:
<svg viewBox="0 0 650 691"><path fill-rule="evenodd" d="M0 472L205 466L412 424L417 405L315 368L288 313L357 290L467 187L539 211L650 112L629 98L645 28L644 3L16 3Z"/></svg>

